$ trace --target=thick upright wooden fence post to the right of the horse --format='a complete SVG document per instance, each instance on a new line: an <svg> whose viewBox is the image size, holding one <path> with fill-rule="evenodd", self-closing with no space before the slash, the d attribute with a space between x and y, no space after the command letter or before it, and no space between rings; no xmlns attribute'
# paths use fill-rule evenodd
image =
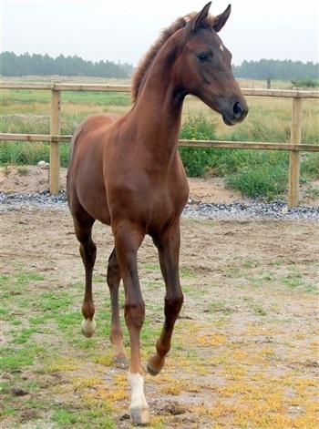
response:
<svg viewBox="0 0 319 429"><path fill-rule="evenodd" d="M299 89L299 88L295 88ZM290 142L300 145L302 140L303 99L293 97L292 129ZM291 150L289 158L288 206L298 207L299 202L300 151Z"/></svg>

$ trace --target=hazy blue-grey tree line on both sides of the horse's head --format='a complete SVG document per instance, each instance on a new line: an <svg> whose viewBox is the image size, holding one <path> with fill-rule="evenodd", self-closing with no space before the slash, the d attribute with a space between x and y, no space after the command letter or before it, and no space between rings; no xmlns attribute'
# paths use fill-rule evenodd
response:
<svg viewBox="0 0 319 429"><path fill-rule="evenodd" d="M128 63L115 64L111 61L92 62L79 56L57 56L53 58L28 53L15 55L13 52L0 54L1 74L8 77L19 76L87 76L128 78L134 67ZM259 61L243 61L241 66L232 67L235 77L251 79L283 79L298 81L299 79L319 79L319 64L303 63L292 60L261 59Z"/></svg>

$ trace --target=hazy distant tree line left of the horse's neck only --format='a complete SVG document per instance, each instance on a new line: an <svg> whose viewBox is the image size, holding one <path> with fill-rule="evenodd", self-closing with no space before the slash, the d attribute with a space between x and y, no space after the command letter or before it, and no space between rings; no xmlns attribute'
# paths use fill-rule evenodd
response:
<svg viewBox="0 0 319 429"><path fill-rule="evenodd" d="M57 56L53 58L28 53L15 55L13 52L0 54L2 76L88 76L115 77L127 79L133 72L129 64L115 64L112 61L92 62L79 56Z"/></svg>

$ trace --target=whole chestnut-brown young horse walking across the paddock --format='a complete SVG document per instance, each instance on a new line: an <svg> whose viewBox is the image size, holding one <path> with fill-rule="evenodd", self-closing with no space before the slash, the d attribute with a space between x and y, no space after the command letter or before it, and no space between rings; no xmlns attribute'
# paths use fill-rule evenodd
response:
<svg viewBox="0 0 319 429"><path fill-rule="evenodd" d="M178 19L152 46L134 77L134 103L129 113L118 120L105 115L88 117L78 126L70 149L67 199L86 271L82 331L90 337L96 330L92 271L97 248L91 231L99 220L111 226L115 240L108 260L110 340L114 359L120 362L127 359L118 309L121 280L125 289L124 315L130 340L129 410L135 424L149 422L139 354L145 304L137 267L137 253L146 234L159 251L166 285L165 322L156 352L147 365L152 375L160 373L170 351L183 302L180 214L189 187L178 140L184 97L192 94L201 98L221 113L227 125L241 122L248 112L232 75L231 53L217 35L231 6L218 16L209 15L210 6Z"/></svg>

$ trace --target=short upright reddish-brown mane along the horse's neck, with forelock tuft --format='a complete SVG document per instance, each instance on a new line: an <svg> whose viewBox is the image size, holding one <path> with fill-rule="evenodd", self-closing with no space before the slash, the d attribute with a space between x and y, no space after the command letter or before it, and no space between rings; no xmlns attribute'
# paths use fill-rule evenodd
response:
<svg viewBox="0 0 319 429"><path fill-rule="evenodd" d="M170 36L172 36L174 33L180 30L180 28L185 27L191 21L191 19L194 18L196 15L197 13L194 12L192 14L181 16L180 18L178 18L173 24L171 24L168 28L162 31L158 40L154 43L153 46L149 48L149 52L146 54L146 56L144 56L144 59L139 64L139 67L133 76L133 82L132 82L133 101L135 101L136 98L138 97L139 89L142 86L144 77L147 75L149 71L149 67L153 63L155 57L160 52L160 48L169 40ZM212 27L214 22L215 22L215 17L212 15L208 15L205 23L203 23L202 26Z"/></svg>

